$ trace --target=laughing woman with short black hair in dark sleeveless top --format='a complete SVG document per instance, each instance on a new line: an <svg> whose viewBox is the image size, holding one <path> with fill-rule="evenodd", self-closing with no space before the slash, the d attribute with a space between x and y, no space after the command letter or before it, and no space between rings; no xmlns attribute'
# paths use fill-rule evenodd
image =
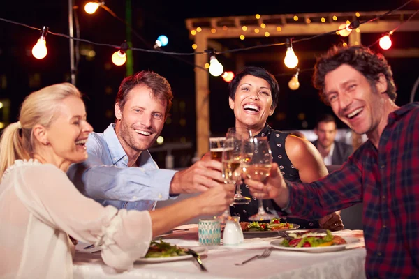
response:
<svg viewBox="0 0 419 279"><path fill-rule="evenodd" d="M228 103L235 114L235 127L251 130L253 137L265 136L270 142L272 157L281 173L288 181L311 182L328 174L317 149L307 140L272 129L267 117L274 113L279 98L279 85L275 77L260 67L242 68L229 84ZM242 187L244 196L249 197L249 189ZM272 201L264 201L267 211L274 211ZM258 211L258 202L251 199L247 205L230 207L232 216L240 216L240 221L248 221L249 216ZM302 228L324 228L340 230L344 224L337 213L329 213L321 218L306 220L284 217L284 221L296 223Z"/></svg>

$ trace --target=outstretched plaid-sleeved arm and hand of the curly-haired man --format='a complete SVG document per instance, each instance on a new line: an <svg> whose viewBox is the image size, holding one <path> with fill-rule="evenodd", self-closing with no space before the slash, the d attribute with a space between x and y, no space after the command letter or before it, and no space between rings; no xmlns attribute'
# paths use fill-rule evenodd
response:
<svg viewBox="0 0 419 279"><path fill-rule="evenodd" d="M274 199L293 216L318 219L362 201L362 172L353 162L313 183L285 181L278 165L273 164L266 185L245 179L253 197Z"/></svg>

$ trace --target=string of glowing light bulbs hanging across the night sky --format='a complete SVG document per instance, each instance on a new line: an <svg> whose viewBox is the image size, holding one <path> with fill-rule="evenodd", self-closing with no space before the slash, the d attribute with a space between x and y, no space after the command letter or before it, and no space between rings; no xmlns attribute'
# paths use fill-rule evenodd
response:
<svg viewBox="0 0 419 279"><path fill-rule="evenodd" d="M48 33L50 33L53 36L61 36L61 37L68 38L68 39L71 39L71 40L75 40L75 41L78 41L78 42L84 42L84 43L89 43L89 44L92 44L92 45L100 45L100 46L115 48L115 49L117 49L117 51L112 54L112 62L115 63L115 65L117 65L117 66L124 65L124 63L126 62L126 51L128 49L132 50L132 51L160 53L160 54L168 54L168 55L172 55L172 56L191 56L191 55L195 55L195 54L207 54L207 55L210 56L210 66L208 67L208 70L209 70L210 74L215 76L215 77L218 77L218 76L222 75L223 79L226 82L230 82L230 80L232 80L233 77L234 77L234 73L233 72L224 72L223 65L218 61L218 59L216 59L216 54L226 54L226 53L231 53L231 52L254 50L254 49L263 48L263 47L286 45L286 56L285 56L285 59L284 59L284 63L288 68L293 69L293 68L296 68L297 65L298 65L298 58L295 55L295 52L293 51L293 43L300 43L300 42L303 42L303 41L312 40L314 38L319 38L321 36L328 36L328 35L331 35L331 34L334 34L334 33L338 33L339 35L344 36L344 37L348 36L353 29L358 28L361 24L366 24L368 22L378 20L378 18L383 17L385 15L390 15L391 13L403 8L404 6L409 4L411 1L413 1L413 0L409 0L408 2L404 3L402 6L399 6L398 8L396 8L394 10L390 10L386 13L383 13L383 15L378 15L378 16L370 19L370 20L365 20L364 22L359 22L358 20L354 20L351 23L341 24L339 26L339 28L335 31L321 33L321 34L317 34L315 36L309 36L307 38L301 38L299 40L293 40L293 38L286 38L284 43L271 43L271 44L256 45L256 46L251 46L251 47L242 47L242 48L237 48L237 49L225 50L225 51L222 51L222 52L216 52L216 50L213 50L213 49L205 50L204 52L189 52L189 53L162 51L160 49L160 47L166 46L168 44L168 38L164 35L161 35L157 38L156 43L155 43L153 49L151 49L151 50L147 50L147 49L139 48L139 47L129 47L128 44L125 41L124 41L124 43L122 43L122 45L112 45L112 44L108 44L108 43L96 43L96 42L93 42L91 40L85 40L85 39L82 39L82 38L74 38L74 37L68 36L68 35L63 34L63 33L51 32L51 31L49 31L49 27L43 27L42 29L39 29L39 28L36 28L36 27L31 27L27 24L23 24L21 22L15 22L13 20L7 20L7 19L1 18L1 17L0 17L0 20L3 21L3 22L8 22L10 24L17 24L17 25L20 25L22 27L27 27L29 29L35 29L35 30L41 31L41 35L40 35L36 45L34 45L34 47L32 49L32 54L37 59L43 59L47 55L46 36L47 36ZM112 10L110 10L108 7L106 7L103 2L101 2L101 3L89 2L85 6L85 10L86 10L87 13L92 13L91 10L93 10L93 13L94 13L94 11L97 10L97 8L99 6L103 7L105 10L107 10L112 16L116 17L118 20L124 22L124 24L128 24L127 22L125 22L124 20L119 18L115 13L113 13ZM419 10L417 10L415 13L413 13L407 20L400 23L397 27L395 27L395 29L392 29L392 31L389 31L388 33L385 33L384 36L382 36L380 39L378 39L372 45L369 45L369 47L372 47L376 43L380 42L381 48L383 48L384 50L388 50L388 48L390 48L390 46L391 46L390 36L392 36L392 34L397 29L399 29L399 27L402 24L411 20L411 18L413 18L418 12L419 12ZM133 28L131 26L129 26L129 24L128 24L128 27L130 27L131 31L133 31L135 36L138 36L138 38L143 40L143 43L145 43L144 39L138 33L136 33L135 30L133 30ZM146 43L146 45L147 45L147 43ZM195 67L198 67L198 68L205 69L205 70L207 68L207 67L204 68L202 66L194 65L193 63L192 63L192 65L195 66ZM295 74L286 73L286 74L280 74L280 75L275 75L275 76L293 75L290 82L288 83L288 86L290 87L290 89L296 90L300 86L300 84L298 82L298 75L300 73L302 73L304 71L308 71L308 70L312 70L312 68L305 69L305 70L300 70L299 68L297 68L297 72Z"/></svg>

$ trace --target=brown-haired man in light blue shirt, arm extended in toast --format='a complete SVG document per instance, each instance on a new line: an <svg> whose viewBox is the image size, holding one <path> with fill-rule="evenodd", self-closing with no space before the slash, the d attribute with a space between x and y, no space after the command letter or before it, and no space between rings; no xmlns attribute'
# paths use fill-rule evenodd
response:
<svg viewBox="0 0 419 279"><path fill-rule="evenodd" d="M159 169L149 149L159 137L172 105L166 78L142 71L126 77L115 101L115 123L91 133L89 157L71 165L68 177L81 193L103 206L150 210L156 201L203 192L223 182L221 163L198 161L176 172Z"/></svg>

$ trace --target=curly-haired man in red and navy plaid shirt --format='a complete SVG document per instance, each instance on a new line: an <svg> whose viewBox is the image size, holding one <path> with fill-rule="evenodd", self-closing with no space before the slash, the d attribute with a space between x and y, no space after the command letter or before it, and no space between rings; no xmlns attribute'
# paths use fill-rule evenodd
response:
<svg viewBox="0 0 419 279"><path fill-rule="evenodd" d="M362 144L344 165L314 183L284 181L274 164L251 194L277 211L321 218L363 203L368 278L419 278L419 103L398 107L392 71L367 47L330 50L318 59L314 86Z"/></svg>

